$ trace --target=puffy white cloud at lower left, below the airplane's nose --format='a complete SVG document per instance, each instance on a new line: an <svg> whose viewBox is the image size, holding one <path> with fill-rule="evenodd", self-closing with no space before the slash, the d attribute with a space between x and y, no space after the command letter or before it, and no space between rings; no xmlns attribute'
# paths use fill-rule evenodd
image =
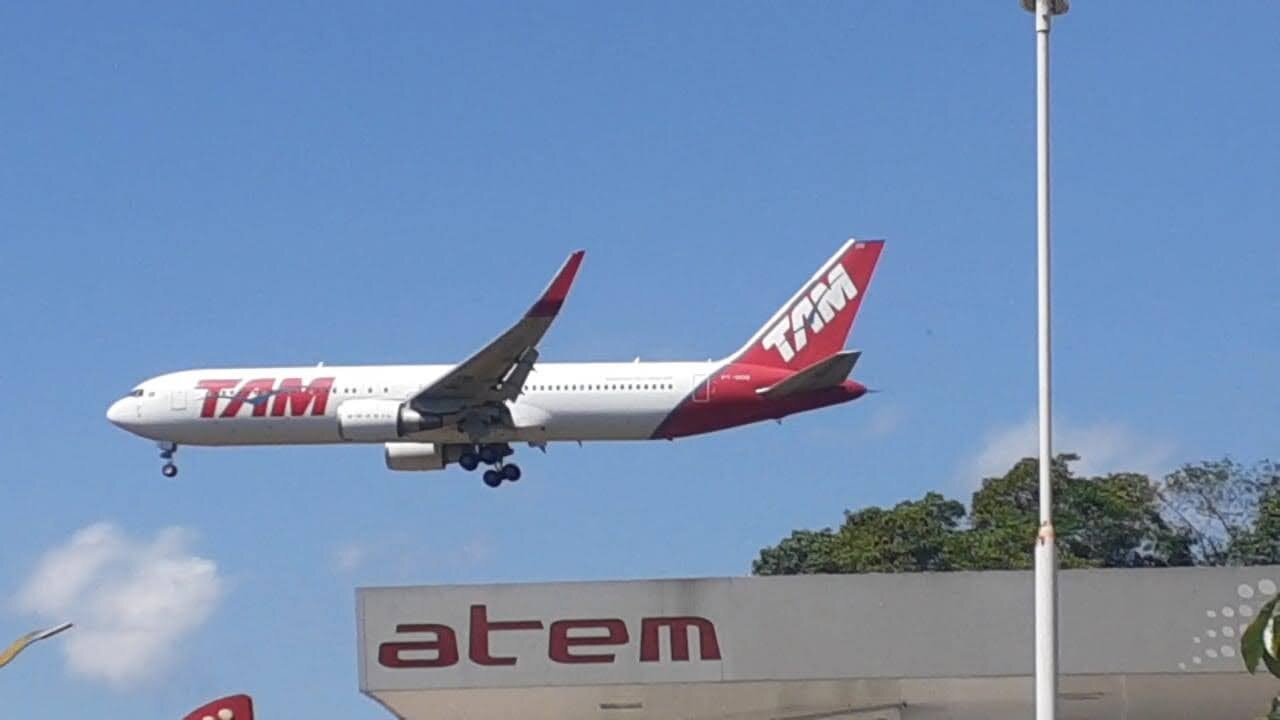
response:
<svg viewBox="0 0 1280 720"><path fill-rule="evenodd" d="M154 679L223 596L218 565L191 553L191 539L183 528L148 541L90 525L41 557L14 605L76 623L60 638L72 673L115 687Z"/></svg>

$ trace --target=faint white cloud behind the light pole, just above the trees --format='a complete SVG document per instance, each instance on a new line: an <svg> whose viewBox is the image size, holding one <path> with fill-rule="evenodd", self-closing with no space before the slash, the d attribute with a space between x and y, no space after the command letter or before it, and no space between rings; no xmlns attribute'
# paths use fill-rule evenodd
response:
<svg viewBox="0 0 1280 720"><path fill-rule="evenodd" d="M1039 424L1036 415L1016 425L997 428L987 433L982 450L965 465L968 483L982 478L1000 477L1023 457L1036 457L1039 452ZM1146 437L1138 430L1110 420L1076 425L1055 419L1053 452L1074 452L1080 460L1071 468L1078 475L1105 473L1146 473L1160 478L1172 469L1175 447L1172 443Z"/></svg>

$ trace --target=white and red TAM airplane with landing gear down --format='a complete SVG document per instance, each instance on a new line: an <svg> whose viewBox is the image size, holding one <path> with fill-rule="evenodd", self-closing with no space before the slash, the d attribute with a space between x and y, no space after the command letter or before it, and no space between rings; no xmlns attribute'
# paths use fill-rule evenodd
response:
<svg viewBox="0 0 1280 720"><path fill-rule="evenodd" d="M106 411L156 441L161 473L182 445L383 445L390 470L481 465L516 482L512 443L675 439L849 402L860 352L845 350L883 241L849 240L736 352L692 363L543 363L538 343L582 264L579 250L507 332L456 365L218 368L159 375Z"/></svg>

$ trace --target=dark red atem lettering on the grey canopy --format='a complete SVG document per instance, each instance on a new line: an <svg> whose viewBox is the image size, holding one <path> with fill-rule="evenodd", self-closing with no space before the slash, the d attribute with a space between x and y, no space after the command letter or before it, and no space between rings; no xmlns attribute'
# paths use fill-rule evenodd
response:
<svg viewBox="0 0 1280 720"><path fill-rule="evenodd" d="M486 667L516 665L518 657L493 653L490 638L498 633L534 630L545 632L547 657L564 665L616 662L617 651L631 644L630 629L620 618L554 620L549 624L541 620L493 620L488 606L472 605L467 657ZM449 625L406 623L396 625L396 634L404 638L378 647L378 662L384 667L451 667L461 660L458 633ZM710 620L694 616L643 618L637 659L640 662L660 662L666 646L671 661L687 662L691 659L689 641L695 634L698 659L719 660L719 639Z"/></svg>

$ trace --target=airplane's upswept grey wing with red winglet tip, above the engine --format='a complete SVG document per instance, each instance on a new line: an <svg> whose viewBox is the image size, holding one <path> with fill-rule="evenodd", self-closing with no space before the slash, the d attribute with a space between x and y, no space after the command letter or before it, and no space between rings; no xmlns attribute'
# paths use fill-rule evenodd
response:
<svg viewBox="0 0 1280 720"><path fill-rule="evenodd" d="M419 413L451 415L515 400L538 361L538 342L568 297L585 251L568 256L541 297L515 325L410 398Z"/></svg>

